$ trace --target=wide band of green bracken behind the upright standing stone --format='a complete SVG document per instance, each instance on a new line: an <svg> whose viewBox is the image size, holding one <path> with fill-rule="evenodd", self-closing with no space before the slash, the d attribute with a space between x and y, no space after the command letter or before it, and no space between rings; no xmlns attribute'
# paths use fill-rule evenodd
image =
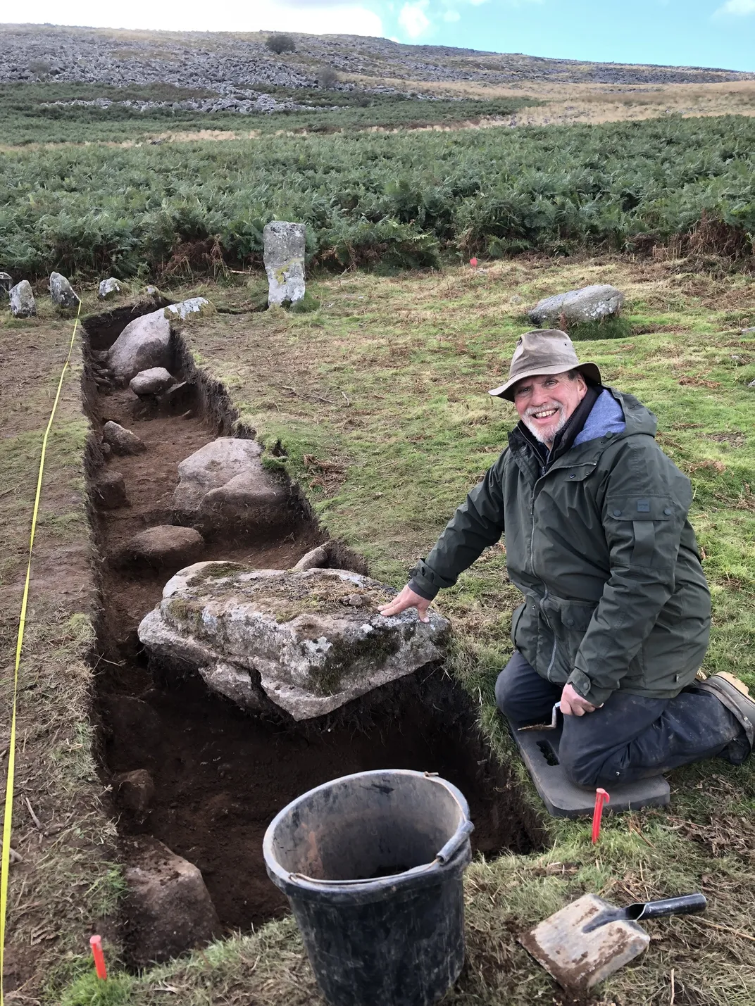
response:
<svg viewBox="0 0 755 1006"><path fill-rule="evenodd" d="M310 266L334 270L637 242L736 262L753 254L754 150L740 116L6 152L0 262L217 274L261 265L271 218L304 221Z"/></svg>

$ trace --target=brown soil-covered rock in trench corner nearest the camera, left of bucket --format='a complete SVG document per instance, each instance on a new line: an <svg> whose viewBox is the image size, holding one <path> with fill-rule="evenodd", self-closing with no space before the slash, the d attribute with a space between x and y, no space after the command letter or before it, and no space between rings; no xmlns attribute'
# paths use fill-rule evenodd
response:
<svg viewBox="0 0 755 1006"><path fill-rule="evenodd" d="M126 853L126 917L134 964L167 961L219 936L217 913L193 863L146 835L130 839Z"/></svg>

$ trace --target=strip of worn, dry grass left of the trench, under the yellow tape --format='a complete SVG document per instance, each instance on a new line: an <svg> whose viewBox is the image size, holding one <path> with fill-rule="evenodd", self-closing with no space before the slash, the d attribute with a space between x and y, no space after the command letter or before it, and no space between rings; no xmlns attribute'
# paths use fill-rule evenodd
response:
<svg viewBox="0 0 755 1006"><path fill-rule="evenodd" d="M16 633L42 434L72 322L40 301L39 317L0 314L0 761L7 767ZM88 424L80 347L47 448L19 672L13 857L5 999L38 1002L82 968L92 926L116 937L123 889L114 823L103 808L90 718L95 588L83 452ZM15 991L11 992L10 989ZM47 993L48 1002L57 992Z"/></svg>

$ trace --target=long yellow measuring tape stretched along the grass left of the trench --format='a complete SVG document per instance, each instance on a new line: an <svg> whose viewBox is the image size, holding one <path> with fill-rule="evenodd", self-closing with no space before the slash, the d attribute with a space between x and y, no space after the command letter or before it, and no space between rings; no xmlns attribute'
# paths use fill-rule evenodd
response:
<svg viewBox="0 0 755 1006"><path fill-rule="evenodd" d="M13 820L13 781L16 771L16 702L18 698L18 667L21 663L21 649L23 647L23 634L26 628L26 605L29 599L29 579L31 578L31 552L34 548L34 532L36 531L36 518L39 512L39 498L42 493L42 475L44 474L44 458L47 453L47 438L52 429L52 422L57 410L57 403L60 400L60 391L65 376L65 371L70 363L70 354L73 352L73 343L79 327L79 316L82 312L82 302L79 302L76 321L73 322L73 332L70 336L68 355L65 357L63 368L60 371L60 379L57 382L55 400L52 402L52 411L49 413L47 429L42 438L42 454L39 458L39 474L36 479L36 495L34 496L34 509L31 513L31 533L29 535L29 558L26 563L26 579L23 584L23 597L21 599L21 616L18 620L18 637L16 639L16 663L13 671L13 700L12 713L10 719L10 740L8 741L8 776L5 781L5 812L3 814L3 849L2 865L0 867L0 1006L3 1006L3 971L5 963L5 916L8 908L8 868L10 865L10 832Z"/></svg>

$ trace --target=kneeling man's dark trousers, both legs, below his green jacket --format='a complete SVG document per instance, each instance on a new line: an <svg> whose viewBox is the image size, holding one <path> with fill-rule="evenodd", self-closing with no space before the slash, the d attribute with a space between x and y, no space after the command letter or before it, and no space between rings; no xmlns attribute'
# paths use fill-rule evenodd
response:
<svg viewBox="0 0 755 1006"><path fill-rule="evenodd" d="M553 684L514 651L498 675L495 700L519 726L550 722L563 685ZM684 691L675 698L644 698L615 691L584 716L564 716L559 761L578 786L610 786L648 779L721 754L738 764L749 745L736 717L715 695Z"/></svg>

